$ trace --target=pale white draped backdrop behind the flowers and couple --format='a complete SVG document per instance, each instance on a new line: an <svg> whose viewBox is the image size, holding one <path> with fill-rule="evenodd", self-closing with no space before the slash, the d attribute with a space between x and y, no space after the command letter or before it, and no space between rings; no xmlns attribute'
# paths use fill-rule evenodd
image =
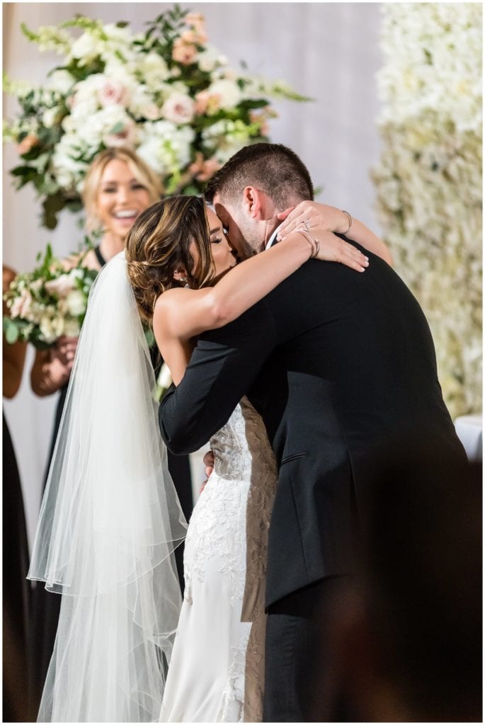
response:
<svg viewBox="0 0 485 725"><path fill-rule="evenodd" d="M16 79L42 83L57 65L54 53L40 54L20 31L68 20L76 13L106 22L128 20L142 30L166 3L6 3L4 70ZM245 60L249 71L283 79L315 101L275 104L279 118L271 124L272 141L291 146L307 163L319 199L352 212L378 231L369 170L378 161L378 115L375 74L381 66L377 3L181 3L197 9L207 22L210 42L232 65ZM4 99L4 114L15 104ZM40 204L30 188L14 191L8 170L17 162L12 146L4 149L4 262L17 271L35 265L36 254L51 241L67 254L82 232L63 212L55 231L39 228ZM17 460L30 541L35 531L43 471L49 449L57 396L38 398L30 390L33 349L29 349L20 392L4 402Z"/></svg>

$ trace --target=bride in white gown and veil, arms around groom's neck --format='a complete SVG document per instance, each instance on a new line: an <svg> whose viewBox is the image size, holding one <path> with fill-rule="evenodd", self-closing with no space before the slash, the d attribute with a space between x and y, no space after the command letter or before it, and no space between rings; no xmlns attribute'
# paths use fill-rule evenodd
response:
<svg viewBox="0 0 485 725"><path fill-rule="evenodd" d="M355 247L319 231L320 260L365 269ZM160 711L181 608L173 550L186 524L138 312L178 383L194 336L235 319L315 251L296 232L234 268L220 220L202 199L178 196L140 215L126 259L118 254L96 278L29 573L64 595L39 721L260 717L276 476L264 426L244 400L212 441L215 473L188 529L186 598Z"/></svg>

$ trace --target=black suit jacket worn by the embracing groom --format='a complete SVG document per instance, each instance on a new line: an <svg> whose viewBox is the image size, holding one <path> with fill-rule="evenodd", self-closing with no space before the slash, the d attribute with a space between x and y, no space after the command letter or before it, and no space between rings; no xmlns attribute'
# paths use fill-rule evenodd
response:
<svg viewBox="0 0 485 725"><path fill-rule="evenodd" d="M162 436L179 454L207 442L244 394L262 415L279 468L267 605L354 571L370 485L390 449L413 455L427 439L464 455L426 318L397 273L368 256L364 273L311 260L201 335L159 407Z"/></svg>

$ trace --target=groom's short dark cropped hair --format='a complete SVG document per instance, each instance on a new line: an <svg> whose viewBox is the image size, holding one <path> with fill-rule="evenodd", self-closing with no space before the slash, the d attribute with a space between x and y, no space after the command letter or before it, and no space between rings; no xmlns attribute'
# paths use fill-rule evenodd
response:
<svg viewBox="0 0 485 725"><path fill-rule="evenodd" d="M307 167L294 151L282 144L244 146L212 177L205 199L210 204L215 194L234 199L246 186L256 186L264 191L278 209L313 199L313 184Z"/></svg>

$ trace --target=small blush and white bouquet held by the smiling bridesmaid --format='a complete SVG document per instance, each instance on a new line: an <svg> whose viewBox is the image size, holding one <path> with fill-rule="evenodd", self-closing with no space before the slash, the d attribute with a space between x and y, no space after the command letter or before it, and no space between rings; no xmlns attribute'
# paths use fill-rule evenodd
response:
<svg viewBox="0 0 485 725"><path fill-rule="evenodd" d="M10 315L4 317L4 334L9 344L22 340L37 349L54 345L62 335L78 336L91 284L96 270L83 266L88 248L79 255L75 266L52 254L48 244L41 264L33 272L17 275L4 300ZM37 260L41 260L41 253Z"/></svg>

